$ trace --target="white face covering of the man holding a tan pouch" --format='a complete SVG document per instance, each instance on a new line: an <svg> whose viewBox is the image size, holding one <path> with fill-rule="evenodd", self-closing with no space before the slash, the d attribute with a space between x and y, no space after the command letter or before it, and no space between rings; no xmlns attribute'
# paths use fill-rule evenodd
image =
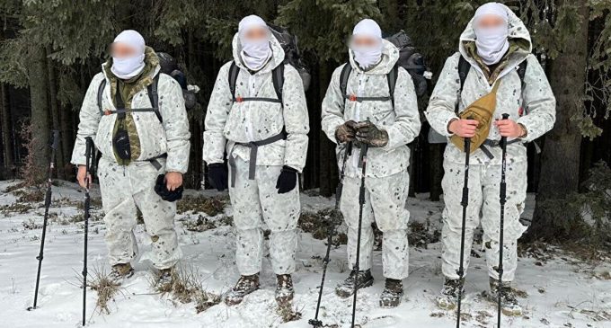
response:
<svg viewBox="0 0 611 328"><path fill-rule="evenodd" d="M475 46L484 64L495 65L509 49L507 24L493 28L475 28Z"/></svg>

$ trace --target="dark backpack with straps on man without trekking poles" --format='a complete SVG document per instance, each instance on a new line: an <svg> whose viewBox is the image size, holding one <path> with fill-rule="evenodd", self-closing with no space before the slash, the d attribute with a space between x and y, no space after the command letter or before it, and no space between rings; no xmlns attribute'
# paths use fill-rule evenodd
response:
<svg viewBox="0 0 611 328"><path fill-rule="evenodd" d="M284 62L279 66L276 66L271 70L271 81L274 84L274 90L276 91L276 99L274 98L263 98L263 97L238 97L235 98L235 84L237 83L237 75L240 74L240 67L235 65L235 61L232 61L229 66L229 90L231 91L231 97L234 102L278 102L282 106L282 88L284 87L284 66L290 65L297 69L297 73L301 76L301 81L304 84L304 91L307 90L310 84L310 74L307 71L306 66L301 61L299 49L297 49L297 37L288 33L288 30L275 25L268 25L270 27L271 34L279 41L282 49L284 50Z"/></svg>

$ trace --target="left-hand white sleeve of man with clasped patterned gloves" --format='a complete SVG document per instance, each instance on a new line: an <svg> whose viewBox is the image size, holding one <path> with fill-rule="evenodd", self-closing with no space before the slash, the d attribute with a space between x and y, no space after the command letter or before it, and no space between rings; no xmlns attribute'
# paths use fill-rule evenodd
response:
<svg viewBox="0 0 611 328"><path fill-rule="evenodd" d="M345 64L350 65L350 64ZM331 82L324 95L323 108L321 111L321 126L329 140L337 144L335 130L345 122L343 116L344 95L341 94L340 75L343 66L335 69L331 76Z"/></svg>

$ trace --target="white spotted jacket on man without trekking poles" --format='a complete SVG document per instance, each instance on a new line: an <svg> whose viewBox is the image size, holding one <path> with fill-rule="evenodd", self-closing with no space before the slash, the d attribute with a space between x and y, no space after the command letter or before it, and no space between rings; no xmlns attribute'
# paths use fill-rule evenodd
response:
<svg viewBox="0 0 611 328"><path fill-rule="evenodd" d="M242 45L235 34L233 53L240 73L235 82L235 96L277 99L271 70L284 61L284 50L270 35L273 52L270 61L250 74L240 58ZM231 61L221 67L210 96L206 113L203 160L207 164L223 163L223 155L250 159L250 149L236 143L249 143L274 137L286 129L287 139L260 146L257 165L288 165L301 172L306 165L307 133L310 130L306 94L301 76L290 65L285 65L282 104L278 102L233 102L229 89Z"/></svg>

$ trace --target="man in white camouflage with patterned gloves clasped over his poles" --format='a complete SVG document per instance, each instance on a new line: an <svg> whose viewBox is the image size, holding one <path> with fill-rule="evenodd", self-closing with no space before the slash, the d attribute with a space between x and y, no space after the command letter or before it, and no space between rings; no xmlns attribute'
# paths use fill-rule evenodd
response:
<svg viewBox="0 0 611 328"><path fill-rule="evenodd" d="M351 272L335 291L340 297L350 297L354 279L358 279L359 288L373 284L371 224L375 221L384 233L382 261L386 280L380 306L393 307L401 302L402 280L408 276L410 213L405 209L405 201L410 185L410 148L407 144L418 136L421 128L417 97L412 76L403 67L396 66L399 49L382 39L376 22L366 19L354 27L349 53L350 62L333 72L322 113L323 130L338 145L340 165L346 156L347 143L354 145L346 165L340 206L348 225ZM345 75L346 66L350 66L351 72L342 90L341 75ZM397 68L394 94L391 94L387 75ZM369 150L357 272L354 264L359 230L359 153L363 144L367 144Z"/></svg>

